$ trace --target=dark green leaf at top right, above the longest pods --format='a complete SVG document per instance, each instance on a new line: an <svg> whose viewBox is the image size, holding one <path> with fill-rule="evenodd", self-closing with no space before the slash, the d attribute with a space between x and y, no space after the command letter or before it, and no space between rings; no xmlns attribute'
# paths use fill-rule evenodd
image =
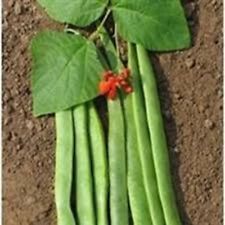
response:
<svg viewBox="0 0 225 225"><path fill-rule="evenodd" d="M111 0L118 32L149 50L190 46L190 34L179 0Z"/></svg>

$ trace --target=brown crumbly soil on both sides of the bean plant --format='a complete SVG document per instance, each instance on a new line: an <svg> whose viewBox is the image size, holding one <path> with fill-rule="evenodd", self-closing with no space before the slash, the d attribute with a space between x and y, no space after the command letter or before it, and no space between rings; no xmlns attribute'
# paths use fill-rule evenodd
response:
<svg viewBox="0 0 225 225"><path fill-rule="evenodd" d="M3 224L55 225L54 119L34 118L28 46L61 26L34 0L3 0ZM154 56L185 225L222 225L222 1L185 1L193 47Z"/></svg>

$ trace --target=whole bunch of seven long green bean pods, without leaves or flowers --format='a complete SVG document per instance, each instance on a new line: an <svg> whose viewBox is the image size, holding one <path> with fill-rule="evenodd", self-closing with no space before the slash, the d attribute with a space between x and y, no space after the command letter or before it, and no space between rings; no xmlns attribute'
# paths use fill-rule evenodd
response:
<svg viewBox="0 0 225 225"><path fill-rule="evenodd" d="M105 68L123 68L106 30L101 40ZM181 224L156 81L142 46L128 43L128 68L134 91L107 101L106 138L92 102L56 113L58 225Z"/></svg>

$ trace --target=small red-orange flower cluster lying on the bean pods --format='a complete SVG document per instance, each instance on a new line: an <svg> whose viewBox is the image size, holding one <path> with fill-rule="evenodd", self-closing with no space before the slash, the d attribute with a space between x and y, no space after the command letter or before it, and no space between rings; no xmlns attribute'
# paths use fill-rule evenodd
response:
<svg viewBox="0 0 225 225"><path fill-rule="evenodd" d="M99 92L101 95L107 96L109 99L114 100L117 96L117 89L122 89L125 93L129 94L133 88L129 81L130 70L123 69L118 75L111 70L103 73L103 80L99 83Z"/></svg>

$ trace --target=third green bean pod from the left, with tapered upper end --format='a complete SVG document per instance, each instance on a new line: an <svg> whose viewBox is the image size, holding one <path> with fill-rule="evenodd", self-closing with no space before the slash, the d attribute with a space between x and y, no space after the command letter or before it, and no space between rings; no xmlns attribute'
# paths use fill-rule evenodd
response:
<svg viewBox="0 0 225 225"><path fill-rule="evenodd" d="M109 179L106 143L103 128L95 106L88 103L89 138L94 176L97 224L108 225Z"/></svg>

